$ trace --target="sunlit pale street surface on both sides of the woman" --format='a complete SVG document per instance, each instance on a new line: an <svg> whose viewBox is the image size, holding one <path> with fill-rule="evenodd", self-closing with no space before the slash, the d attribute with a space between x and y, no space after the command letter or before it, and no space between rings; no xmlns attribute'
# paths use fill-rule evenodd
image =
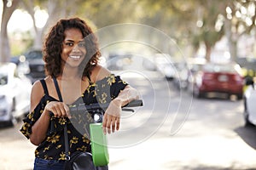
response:
<svg viewBox="0 0 256 170"><path fill-rule="evenodd" d="M242 100L193 99L161 78L125 77L144 105L108 135L110 170L256 169L256 128L243 126ZM20 126L0 129L1 170L33 167L35 146Z"/></svg>

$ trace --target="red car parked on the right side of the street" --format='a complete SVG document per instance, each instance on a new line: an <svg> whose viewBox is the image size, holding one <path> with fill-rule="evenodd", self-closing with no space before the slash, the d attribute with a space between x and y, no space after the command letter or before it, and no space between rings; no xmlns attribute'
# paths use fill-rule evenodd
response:
<svg viewBox="0 0 256 170"><path fill-rule="evenodd" d="M242 99L244 79L241 67L236 63L207 63L191 80L189 89L196 97L227 94L228 97L236 95L237 99Z"/></svg>

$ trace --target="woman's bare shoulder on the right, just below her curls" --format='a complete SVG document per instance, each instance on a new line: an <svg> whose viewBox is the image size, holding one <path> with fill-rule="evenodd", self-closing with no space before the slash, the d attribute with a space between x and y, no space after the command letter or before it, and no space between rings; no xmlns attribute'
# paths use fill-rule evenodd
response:
<svg viewBox="0 0 256 170"><path fill-rule="evenodd" d="M102 80L104 77L108 77L110 74L111 72L102 65L96 65L91 71L90 78L93 82L97 82L99 80Z"/></svg>

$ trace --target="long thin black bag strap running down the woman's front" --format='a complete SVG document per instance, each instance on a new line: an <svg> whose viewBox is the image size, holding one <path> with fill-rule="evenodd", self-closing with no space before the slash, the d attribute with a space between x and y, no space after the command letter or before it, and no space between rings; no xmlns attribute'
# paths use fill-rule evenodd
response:
<svg viewBox="0 0 256 170"><path fill-rule="evenodd" d="M55 88L56 88L57 94L59 96L59 99L62 102L63 100L62 100L61 90L59 88L58 82L57 82L55 77L53 77L53 80L55 82ZM66 123L65 123L65 126L64 126L64 139L65 139L65 160L68 161L68 160L70 160L70 156L68 154L69 146L68 146L67 124Z"/></svg>

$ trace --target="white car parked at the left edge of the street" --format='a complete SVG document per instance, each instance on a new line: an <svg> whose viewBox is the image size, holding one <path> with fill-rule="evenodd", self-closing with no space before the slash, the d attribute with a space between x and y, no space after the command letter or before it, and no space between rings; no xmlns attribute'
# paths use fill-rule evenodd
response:
<svg viewBox="0 0 256 170"><path fill-rule="evenodd" d="M14 63L0 63L0 122L14 126L30 107L32 82Z"/></svg>

